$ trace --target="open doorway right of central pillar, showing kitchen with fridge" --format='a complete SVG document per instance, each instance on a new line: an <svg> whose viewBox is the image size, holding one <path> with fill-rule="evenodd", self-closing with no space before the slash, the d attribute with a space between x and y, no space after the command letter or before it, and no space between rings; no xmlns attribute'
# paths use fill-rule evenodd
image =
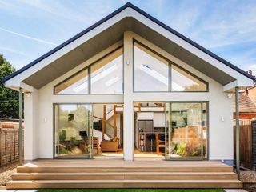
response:
<svg viewBox="0 0 256 192"><path fill-rule="evenodd" d="M165 102L134 102L134 158L164 158L165 127Z"/></svg>

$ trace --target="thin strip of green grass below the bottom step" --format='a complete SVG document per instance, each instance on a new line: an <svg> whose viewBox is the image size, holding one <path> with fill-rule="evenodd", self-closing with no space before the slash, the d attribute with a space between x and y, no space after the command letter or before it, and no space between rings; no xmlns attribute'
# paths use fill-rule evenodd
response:
<svg viewBox="0 0 256 192"><path fill-rule="evenodd" d="M174 190L174 189L42 189L38 192L223 192L224 190L209 189L209 190Z"/></svg>

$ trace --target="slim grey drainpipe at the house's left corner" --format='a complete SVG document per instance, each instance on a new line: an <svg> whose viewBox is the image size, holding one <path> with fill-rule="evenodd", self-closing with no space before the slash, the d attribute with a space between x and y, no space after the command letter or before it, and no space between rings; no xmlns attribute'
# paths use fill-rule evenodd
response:
<svg viewBox="0 0 256 192"><path fill-rule="evenodd" d="M18 159L19 159L19 165L22 165L22 152L23 152L23 147L22 147L22 120L23 120L23 106L22 106L22 100L23 100L23 89L20 87L19 88L19 94L18 94L18 104L19 104L19 126L18 126Z"/></svg>

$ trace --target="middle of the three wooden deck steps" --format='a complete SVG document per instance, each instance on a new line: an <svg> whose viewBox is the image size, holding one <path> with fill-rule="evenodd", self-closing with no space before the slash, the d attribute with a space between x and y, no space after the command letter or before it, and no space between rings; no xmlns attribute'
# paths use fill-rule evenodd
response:
<svg viewBox="0 0 256 192"><path fill-rule="evenodd" d="M237 179L233 172L16 173L13 180L206 180Z"/></svg>

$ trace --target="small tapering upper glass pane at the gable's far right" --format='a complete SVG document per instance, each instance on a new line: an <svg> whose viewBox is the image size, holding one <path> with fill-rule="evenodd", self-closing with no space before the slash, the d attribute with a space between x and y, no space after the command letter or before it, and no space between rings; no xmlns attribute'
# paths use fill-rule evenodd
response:
<svg viewBox="0 0 256 192"><path fill-rule="evenodd" d="M180 67L171 66L171 91L207 91L207 83Z"/></svg>

